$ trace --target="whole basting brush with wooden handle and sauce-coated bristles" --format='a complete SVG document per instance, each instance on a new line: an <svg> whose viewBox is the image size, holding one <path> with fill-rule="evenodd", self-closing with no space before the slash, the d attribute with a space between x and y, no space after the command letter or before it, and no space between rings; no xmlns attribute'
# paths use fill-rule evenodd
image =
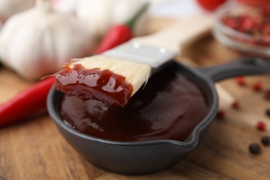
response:
<svg viewBox="0 0 270 180"><path fill-rule="evenodd" d="M210 15L188 18L158 33L131 39L101 55L73 59L55 73L55 88L82 100L124 106L150 75L173 60L180 47L208 33L211 24Z"/></svg>

